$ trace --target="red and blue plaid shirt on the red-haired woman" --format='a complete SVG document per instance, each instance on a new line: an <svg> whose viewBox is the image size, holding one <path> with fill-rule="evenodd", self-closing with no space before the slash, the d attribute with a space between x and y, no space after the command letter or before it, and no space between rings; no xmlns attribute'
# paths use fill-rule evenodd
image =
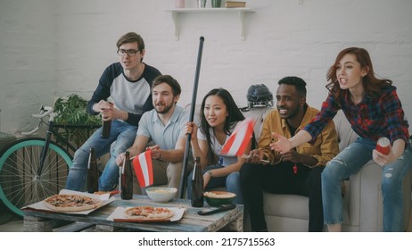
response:
<svg viewBox="0 0 412 250"><path fill-rule="evenodd" d="M304 128L312 138L316 138L340 109L350 121L352 129L360 137L377 141L379 137L388 137L391 143L403 139L408 144L408 121L396 93L396 87L382 89L380 96L365 96L359 104L350 101L349 91L343 91L340 100L327 96L317 116Z"/></svg>

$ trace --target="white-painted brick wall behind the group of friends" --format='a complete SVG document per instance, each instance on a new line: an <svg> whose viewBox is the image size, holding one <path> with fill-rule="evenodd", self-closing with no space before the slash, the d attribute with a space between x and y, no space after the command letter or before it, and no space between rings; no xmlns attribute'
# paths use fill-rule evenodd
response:
<svg viewBox="0 0 412 250"><path fill-rule="evenodd" d="M186 7L196 6L186 0ZM118 60L115 43L128 31L146 43L145 63L173 75L192 99L199 37L205 37L198 103L212 87L226 87L239 106L246 91L297 75L308 83L309 104L327 94L325 74L348 46L367 48L375 72L392 79L412 121L412 1L247 0L246 40L236 13L180 15L174 37L174 0L70 0L0 2L0 129L34 123L29 114L54 96L90 97L104 68ZM207 6L210 6L208 1ZM412 129L411 129L412 130Z"/></svg>

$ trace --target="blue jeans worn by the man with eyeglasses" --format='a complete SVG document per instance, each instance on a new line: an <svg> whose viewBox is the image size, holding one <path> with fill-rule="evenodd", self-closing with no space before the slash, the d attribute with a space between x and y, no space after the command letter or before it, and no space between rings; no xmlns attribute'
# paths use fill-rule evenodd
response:
<svg viewBox="0 0 412 250"><path fill-rule="evenodd" d="M67 177L66 188L82 191L87 179L87 162L90 148L95 148L96 157L111 153L103 174L99 179L99 190L110 191L119 180L119 167L116 165L118 154L125 152L133 145L137 127L122 121L111 121L111 136L108 139L101 137L102 128L97 129L85 144L74 154L73 163ZM114 145L111 147L111 144Z"/></svg>

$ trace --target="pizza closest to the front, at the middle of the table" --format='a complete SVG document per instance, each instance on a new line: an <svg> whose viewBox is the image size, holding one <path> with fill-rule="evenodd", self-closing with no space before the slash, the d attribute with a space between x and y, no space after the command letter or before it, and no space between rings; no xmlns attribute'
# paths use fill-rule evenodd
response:
<svg viewBox="0 0 412 250"><path fill-rule="evenodd" d="M173 215L175 213L165 207L135 206L125 211L127 218L141 221L164 221L169 220Z"/></svg>

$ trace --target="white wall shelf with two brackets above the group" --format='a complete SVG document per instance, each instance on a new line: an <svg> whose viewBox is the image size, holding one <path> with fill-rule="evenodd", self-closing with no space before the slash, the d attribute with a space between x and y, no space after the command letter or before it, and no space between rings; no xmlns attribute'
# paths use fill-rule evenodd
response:
<svg viewBox="0 0 412 250"><path fill-rule="evenodd" d="M241 21L241 37L246 39L246 32L244 30L244 23L246 21L246 12L254 12L251 8L181 8L165 10L172 13L172 19L175 25L175 39L179 39L179 15L183 13L227 13L237 12Z"/></svg>

